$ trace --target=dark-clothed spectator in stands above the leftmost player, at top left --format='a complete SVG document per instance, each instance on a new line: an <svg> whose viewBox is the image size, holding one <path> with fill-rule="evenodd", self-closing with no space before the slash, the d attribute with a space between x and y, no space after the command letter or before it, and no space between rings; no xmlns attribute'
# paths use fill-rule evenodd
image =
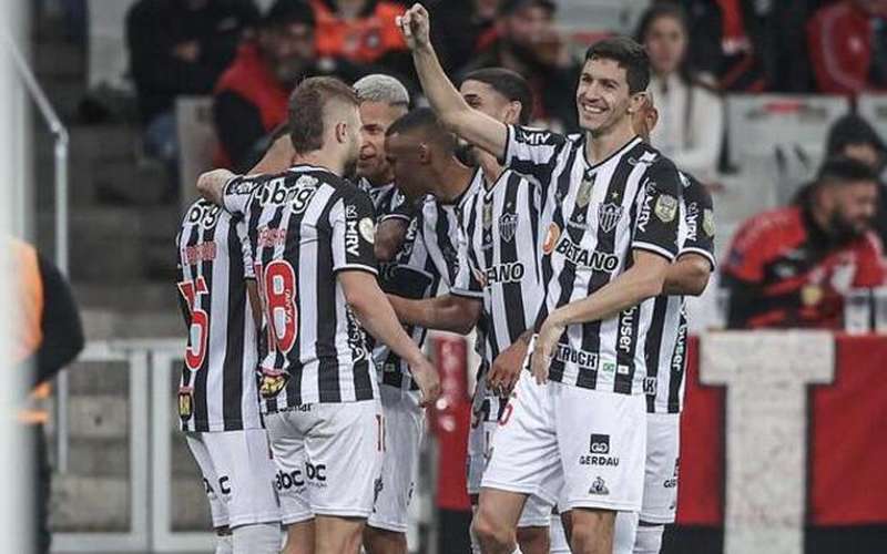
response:
<svg viewBox="0 0 887 554"><path fill-rule="evenodd" d="M176 96L212 93L241 35L257 19L252 0L140 0L126 13L145 152L166 163L172 185L179 154Z"/></svg>

